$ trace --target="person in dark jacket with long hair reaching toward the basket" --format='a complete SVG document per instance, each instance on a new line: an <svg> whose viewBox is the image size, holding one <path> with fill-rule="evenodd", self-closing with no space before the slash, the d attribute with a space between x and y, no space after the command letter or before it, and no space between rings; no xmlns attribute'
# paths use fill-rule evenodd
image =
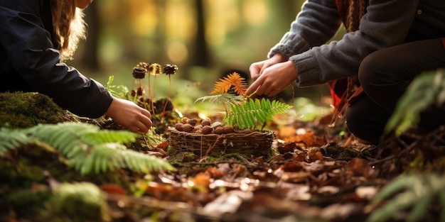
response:
<svg viewBox="0 0 445 222"><path fill-rule="evenodd" d="M0 91L37 91L78 116L106 115L129 131L146 133L149 111L112 96L102 84L63 63L85 38L82 9L91 2L0 1Z"/></svg>

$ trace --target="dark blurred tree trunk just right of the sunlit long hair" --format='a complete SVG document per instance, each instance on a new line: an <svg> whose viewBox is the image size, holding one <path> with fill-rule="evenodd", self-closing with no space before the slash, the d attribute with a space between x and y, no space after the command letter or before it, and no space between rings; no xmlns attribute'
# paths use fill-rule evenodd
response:
<svg viewBox="0 0 445 222"><path fill-rule="evenodd" d="M80 57L82 66L90 70L99 70L99 29L100 17L97 10L97 4L93 2L85 9L85 22L88 24L87 40L85 42L85 50Z"/></svg>

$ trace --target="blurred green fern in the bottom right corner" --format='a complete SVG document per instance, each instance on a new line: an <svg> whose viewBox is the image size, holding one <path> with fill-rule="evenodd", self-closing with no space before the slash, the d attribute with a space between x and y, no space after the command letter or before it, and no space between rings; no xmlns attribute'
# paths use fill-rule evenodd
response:
<svg viewBox="0 0 445 222"><path fill-rule="evenodd" d="M383 205L382 201L390 198ZM442 174L407 174L396 177L371 200L377 209L370 213L368 222L388 221L396 213L409 210L405 221L422 221L433 204L439 204L440 221L445 221L445 179Z"/></svg>

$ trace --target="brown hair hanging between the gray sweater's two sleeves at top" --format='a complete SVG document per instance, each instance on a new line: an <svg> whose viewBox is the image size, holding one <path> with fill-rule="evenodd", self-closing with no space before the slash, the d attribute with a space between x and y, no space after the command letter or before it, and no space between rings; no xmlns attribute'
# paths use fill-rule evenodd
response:
<svg viewBox="0 0 445 222"><path fill-rule="evenodd" d="M348 5L348 15L346 16L345 28L346 31L353 32L358 30L360 26L360 19L366 13L368 0L345 0Z"/></svg>

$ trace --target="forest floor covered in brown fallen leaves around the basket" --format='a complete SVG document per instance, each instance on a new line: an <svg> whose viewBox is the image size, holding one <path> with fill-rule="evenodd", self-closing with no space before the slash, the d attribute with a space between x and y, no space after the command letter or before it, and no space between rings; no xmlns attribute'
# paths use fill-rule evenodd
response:
<svg viewBox="0 0 445 222"><path fill-rule="evenodd" d="M197 113L183 115L197 118ZM69 115L64 118L98 124ZM422 199L424 193L417 190L441 194L434 193L437 188L411 189L409 183L422 184L433 178L424 175L444 171L443 128L424 135L387 136L375 146L356 140L343 124L329 127L331 116L285 125L278 124L280 118L287 117L277 116L267 125L275 135L270 152L249 150L248 154L243 150L186 152L169 145L168 126L163 126L157 142L148 145L147 138L139 140L139 152L166 160L176 170L150 174L122 170L113 179L109 174L92 174L70 181L61 175L76 172L58 172L50 164L58 160L45 152L16 150L1 157L0 206L4 209L0 220L39 221L47 199L33 194L50 190L53 181L85 181L100 187L107 194L107 216L100 221L406 221L412 209L420 212L414 216L420 215L419 221L437 221L441 216L445 204L434 206L434 196ZM38 176L21 174L23 169ZM50 174L42 177L43 172ZM393 190L386 199L375 199L382 187L404 174L417 176L407 177L404 185L397 185L403 189ZM443 186L441 182L438 186ZM403 190L413 192L404 192L405 199L391 202ZM426 202L426 207L417 207L417 201ZM81 204L73 205L80 208L75 218L61 216L53 221L85 221Z"/></svg>

